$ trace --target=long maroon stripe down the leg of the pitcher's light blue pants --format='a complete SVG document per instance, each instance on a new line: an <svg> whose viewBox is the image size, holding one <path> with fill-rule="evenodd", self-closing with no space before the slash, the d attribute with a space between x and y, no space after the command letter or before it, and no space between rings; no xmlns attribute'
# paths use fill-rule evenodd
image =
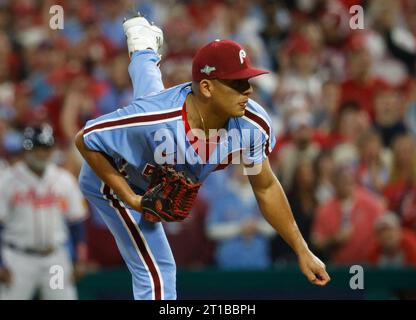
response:
<svg viewBox="0 0 416 320"><path fill-rule="evenodd" d="M122 219L126 223L130 233L132 234L133 239L136 242L136 245L139 248L140 253L143 256L144 262L146 263L150 271L150 275L152 277L152 281L153 281L154 289L155 289L155 300L161 300L162 290L161 290L159 274L157 273L156 266L154 265L153 260L150 257L150 254L146 249L146 246L143 242L142 237L139 234L139 231L136 229L136 226L134 222L132 221L132 219L130 219L126 211L126 208L124 208L120 204L120 202L111 194L110 187L108 185L104 185L103 192L104 192L104 195L107 197L107 199L111 201L113 207L120 213Z"/></svg>

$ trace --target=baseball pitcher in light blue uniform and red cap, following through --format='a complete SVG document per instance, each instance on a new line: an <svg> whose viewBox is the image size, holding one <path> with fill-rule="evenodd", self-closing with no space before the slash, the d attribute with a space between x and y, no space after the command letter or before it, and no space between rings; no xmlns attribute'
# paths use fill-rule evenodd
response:
<svg viewBox="0 0 416 320"><path fill-rule="evenodd" d="M249 79L267 71L253 68L238 43L218 40L195 55L192 82L165 89L162 31L143 17L125 21L124 31L134 100L87 122L76 145L86 160L81 189L115 237L134 298L176 299L175 261L159 221L186 219L204 179L236 159L303 273L325 285L325 266L308 249L267 159L275 145L270 118L249 99Z"/></svg>

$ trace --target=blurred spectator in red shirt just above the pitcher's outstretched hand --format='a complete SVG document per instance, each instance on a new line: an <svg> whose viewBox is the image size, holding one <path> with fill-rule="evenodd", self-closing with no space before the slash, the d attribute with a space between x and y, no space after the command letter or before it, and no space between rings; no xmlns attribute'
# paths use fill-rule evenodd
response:
<svg viewBox="0 0 416 320"><path fill-rule="evenodd" d="M355 174L352 167L336 167L335 196L318 207L312 226L312 243L334 264L367 262L373 225L384 210L378 198L357 185Z"/></svg>

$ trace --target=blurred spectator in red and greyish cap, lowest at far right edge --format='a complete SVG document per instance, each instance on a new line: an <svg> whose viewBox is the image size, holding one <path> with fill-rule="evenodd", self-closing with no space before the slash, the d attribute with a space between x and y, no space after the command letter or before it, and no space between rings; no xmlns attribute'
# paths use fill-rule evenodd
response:
<svg viewBox="0 0 416 320"><path fill-rule="evenodd" d="M371 264L416 267L416 235L400 226L395 213L380 216L374 226L377 241L369 251Z"/></svg>

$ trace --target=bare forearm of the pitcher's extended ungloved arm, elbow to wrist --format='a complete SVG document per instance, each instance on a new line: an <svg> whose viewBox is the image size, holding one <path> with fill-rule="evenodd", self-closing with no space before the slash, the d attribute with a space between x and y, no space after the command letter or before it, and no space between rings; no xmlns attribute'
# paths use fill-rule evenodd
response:
<svg viewBox="0 0 416 320"><path fill-rule="evenodd" d="M293 217L289 202L277 178L268 187L255 192L264 218L279 233L296 254L308 251L308 245Z"/></svg>

